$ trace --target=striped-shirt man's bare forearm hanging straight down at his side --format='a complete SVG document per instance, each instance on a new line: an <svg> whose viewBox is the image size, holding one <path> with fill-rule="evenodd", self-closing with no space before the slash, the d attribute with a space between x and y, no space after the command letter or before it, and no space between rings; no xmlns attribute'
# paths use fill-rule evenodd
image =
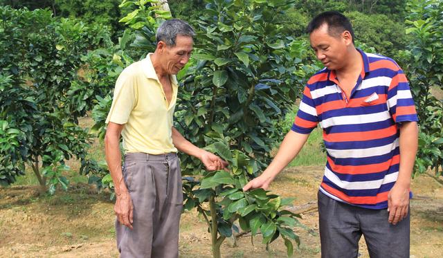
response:
<svg viewBox="0 0 443 258"><path fill-rule="evenodd" d="M415 155L418 148L417 122L404 122L400 127L400 165L398 185L410 187L410 177L414 169Z"/></svg>

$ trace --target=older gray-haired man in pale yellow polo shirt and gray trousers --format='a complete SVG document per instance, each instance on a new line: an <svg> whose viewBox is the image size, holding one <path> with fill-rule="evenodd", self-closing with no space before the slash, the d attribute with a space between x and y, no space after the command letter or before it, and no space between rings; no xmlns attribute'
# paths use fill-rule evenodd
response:
<svg viewBox="0 0 443 258"><path fill-rule="evenodd" d="M125 68L116 82L105 151L116 192L121 257L178 257L183 195L177 149L199 158L210 170L227 165L192 145L172 124L178 90L175 75L189 60L194 35L185 21L163 22L156 33L155 52Z"/></svg>

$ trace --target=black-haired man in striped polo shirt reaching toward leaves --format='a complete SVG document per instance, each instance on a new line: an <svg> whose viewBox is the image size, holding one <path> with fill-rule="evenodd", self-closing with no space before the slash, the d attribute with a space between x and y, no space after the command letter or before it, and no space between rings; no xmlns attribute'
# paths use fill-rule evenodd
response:
<svg viewBox="0 0 443 258"><path fill-rule="evenodd" d="M321 13L307 32L325 68L307 82L278 154L244 190L269 187L320 125L327 149L318 192L322 257L357 257L362 234L370 257L409 257L418 129L408 81L392 59L355 48L339 12Z"/></svg>

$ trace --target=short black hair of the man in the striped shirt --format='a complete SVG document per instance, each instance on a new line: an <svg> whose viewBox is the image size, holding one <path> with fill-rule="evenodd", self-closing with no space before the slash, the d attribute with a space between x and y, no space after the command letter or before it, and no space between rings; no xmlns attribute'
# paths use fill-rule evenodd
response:
<svg viewBox="0 0 443 258"><path fill-rule="evenodd" d="M355 36L351 22L345 15L342 15L341 12L327 11L320 13L309 22L306 32L311 34L314 30L323 26L323 24L327 24L327 33L332 37L337 37L345 30L349 31L352 36L352 43L354 43Z"/></svg>

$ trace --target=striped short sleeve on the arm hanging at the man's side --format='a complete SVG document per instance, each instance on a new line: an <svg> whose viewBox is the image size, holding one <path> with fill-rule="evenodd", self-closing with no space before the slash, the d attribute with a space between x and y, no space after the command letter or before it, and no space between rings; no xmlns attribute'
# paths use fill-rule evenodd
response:
<svg viewBox="0 0 443 258"><path fill-rule="evenodd" d="M409 83L403 71L399 68L392 77L388 89L388 109L395 123L417 121L415 102L410 93Z"/></svg>

